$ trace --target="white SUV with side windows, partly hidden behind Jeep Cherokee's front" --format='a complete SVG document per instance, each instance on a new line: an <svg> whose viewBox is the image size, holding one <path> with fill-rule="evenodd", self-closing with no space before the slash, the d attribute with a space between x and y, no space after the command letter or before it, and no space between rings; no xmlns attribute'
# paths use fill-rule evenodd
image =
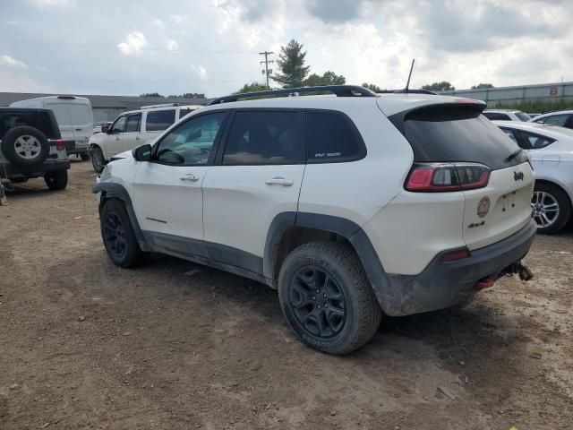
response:
<svg viewBox="0 0 573 430"><path fill-rule="evenodd" d="M167 127L199 107L201 106L155 105L117 116L112 125L102 127L103 133L94 134L90 138L90 155L94 170L101 173L115 155L152 141Z"/></svg>

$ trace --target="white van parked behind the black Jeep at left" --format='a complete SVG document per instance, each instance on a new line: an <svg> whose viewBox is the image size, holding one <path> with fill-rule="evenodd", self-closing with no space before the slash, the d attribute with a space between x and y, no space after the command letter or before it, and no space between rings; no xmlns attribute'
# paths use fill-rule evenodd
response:
<svg viewBox="0 0 573 430"><path fill-rule="evenodd" d="M16 101L10 106L52 109L56 114L67 154L78 155L84 161L90 159L88 142L93 133L90 99L77 96L47 96Z"/></svg>

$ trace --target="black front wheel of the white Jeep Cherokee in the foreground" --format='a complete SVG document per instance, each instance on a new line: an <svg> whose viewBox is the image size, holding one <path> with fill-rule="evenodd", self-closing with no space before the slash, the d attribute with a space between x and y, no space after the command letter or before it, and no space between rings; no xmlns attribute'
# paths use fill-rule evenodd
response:
<svg viewBox="0 0 573 430"><path fill-rule="evenodd" d="M123 202L115 199L105 202L100 212L99 226L107 255L116 266L129 268L142 262L145 254L133 233Z"/></svg>

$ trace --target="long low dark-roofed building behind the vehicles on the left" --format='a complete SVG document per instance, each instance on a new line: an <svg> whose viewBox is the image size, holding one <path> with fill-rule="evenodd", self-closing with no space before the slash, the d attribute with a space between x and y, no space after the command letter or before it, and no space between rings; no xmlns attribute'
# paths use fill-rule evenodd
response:
<svg viewBox="0 0 573 430"><path fill-rule="evenodd" d="M0 92L0 106L9 106L14 101L35 99L37 97L56 96L59 94L39 94L31 92ZM179 103L180 105L206 105L209 99L178 99L168 97L130 97L130 96L94 96L74 94L90 99L93 109L93 119L98 121L113 121L116 116L127 110L139 109L146 105L162 103Z"/></svg>

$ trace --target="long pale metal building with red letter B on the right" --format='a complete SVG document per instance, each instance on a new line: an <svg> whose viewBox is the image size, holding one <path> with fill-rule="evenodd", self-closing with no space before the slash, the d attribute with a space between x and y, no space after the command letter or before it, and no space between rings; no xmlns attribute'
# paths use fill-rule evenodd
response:
<svg viewBox="0 0 573 430"><path fill-rule="evenodd" d="M496 104L518 105L524 101L552 101L566 99L573 105L573 82L542 83L518 87L500 87L486 90L440 91L440 94L483 100L488 107Z"/></svg>

